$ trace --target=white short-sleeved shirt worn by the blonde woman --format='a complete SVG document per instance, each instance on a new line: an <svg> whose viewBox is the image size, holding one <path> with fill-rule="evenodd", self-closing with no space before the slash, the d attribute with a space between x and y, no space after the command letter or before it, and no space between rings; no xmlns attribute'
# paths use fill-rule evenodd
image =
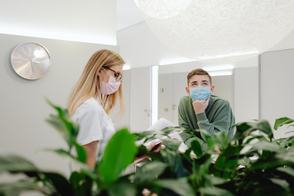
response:
<svg viewBox="0 0 294 196"><path fill-rule="evenodd" d="M99 103L98 98L89 98L84 101L73 113L72 119L79 124L77 142L85 145L93 141L98 142L97 156L104 153L109 139L115 129L111 118ZM101 158L101 156L99 156Z"/></svg>

